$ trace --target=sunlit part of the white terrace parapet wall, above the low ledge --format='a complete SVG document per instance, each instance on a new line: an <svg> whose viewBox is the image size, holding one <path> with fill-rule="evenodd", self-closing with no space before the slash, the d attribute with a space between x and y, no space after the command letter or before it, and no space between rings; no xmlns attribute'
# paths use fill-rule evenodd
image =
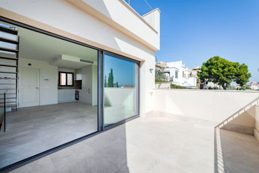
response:
<svg viewBox="0 0 259 173"><path fill-rule="evenodd" d="M153 90L153 113L197 118L217 125L258 99L259 92L213 90Z"/></svg>

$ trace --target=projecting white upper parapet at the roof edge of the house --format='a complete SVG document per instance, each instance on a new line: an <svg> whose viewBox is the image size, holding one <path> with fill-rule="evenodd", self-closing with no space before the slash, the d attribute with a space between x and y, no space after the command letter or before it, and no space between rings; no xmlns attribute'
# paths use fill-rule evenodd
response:
<svg viewBox="0 0 259 173"><path fill-rule="evenodd" d="M91 13L90 7L93 8L95 10L92 13L93 16L118 28L125 35L159 50L160 11L158 9L151 12L154 13L154 21L156 21L150 27L131 6L121 0L83 0L81 2L70 0L70 2L88 13Z"/></svg>

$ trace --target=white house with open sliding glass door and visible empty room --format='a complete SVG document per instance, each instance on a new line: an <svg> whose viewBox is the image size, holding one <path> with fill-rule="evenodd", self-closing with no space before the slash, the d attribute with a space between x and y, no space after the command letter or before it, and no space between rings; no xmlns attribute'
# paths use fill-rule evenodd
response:
<svg viewBox="0 0 259 173"><path fill-rule="evenodd" d="M0 15L0 171L151 114L159 9L16 0Z"/></svg>

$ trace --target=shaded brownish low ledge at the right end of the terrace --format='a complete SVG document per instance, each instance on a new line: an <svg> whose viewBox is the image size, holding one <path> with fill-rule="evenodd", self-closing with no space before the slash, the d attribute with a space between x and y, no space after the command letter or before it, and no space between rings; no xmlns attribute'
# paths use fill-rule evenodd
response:
<svg viewBox="0 0 259 173"><path fill-rule="evenodd" d="M254 135L253 127L246 127L246 126L241 126L241 125L236 125L236 124L231 124L231 123L224 125L220 129L243 133L243 134Z"/></svg>

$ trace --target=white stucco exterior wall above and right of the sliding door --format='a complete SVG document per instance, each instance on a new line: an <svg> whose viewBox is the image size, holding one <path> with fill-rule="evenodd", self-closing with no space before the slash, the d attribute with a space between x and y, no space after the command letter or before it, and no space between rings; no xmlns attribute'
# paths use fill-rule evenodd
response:
<svg viewBox="0 0 259 173"><path fill-rule="evenodd" d="M0 15L140 61L140 115L145 117L152 111L154 71L149 69L154 69L159 33L121 1L82 2L2 0Z"/></svg>

